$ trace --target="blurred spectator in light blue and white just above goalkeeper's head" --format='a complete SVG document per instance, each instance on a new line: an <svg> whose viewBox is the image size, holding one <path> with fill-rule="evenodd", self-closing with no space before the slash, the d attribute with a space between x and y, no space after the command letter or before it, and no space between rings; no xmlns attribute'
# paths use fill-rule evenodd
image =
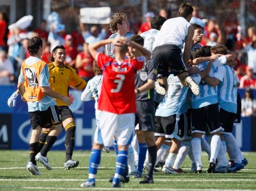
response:
<svg viewBox="0 0 256 191"><path fill-rule="evenodd" d="M65 40L63 38L65 32L65 25L64 24L57 24L56 28L50 26L50 32L48 35L48 41L51 43L51 51L57 45L64 45Z"/></svg>

